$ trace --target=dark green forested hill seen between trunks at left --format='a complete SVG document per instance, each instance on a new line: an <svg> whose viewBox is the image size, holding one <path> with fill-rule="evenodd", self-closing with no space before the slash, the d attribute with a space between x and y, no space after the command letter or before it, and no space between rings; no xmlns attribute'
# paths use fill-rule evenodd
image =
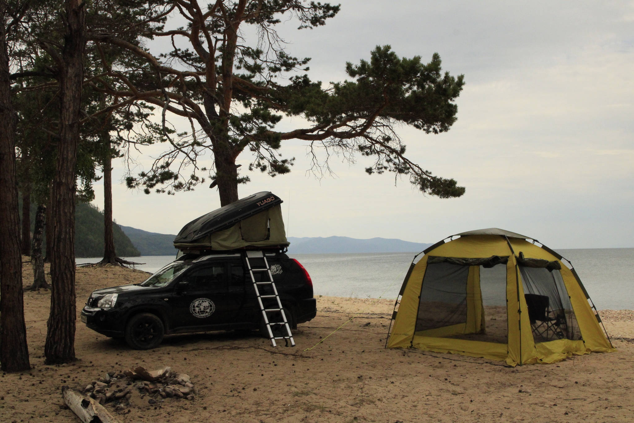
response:
<svg viewBox="0 0 634 423"><path fill-rule="evenodd" d="M22 209L22 204L20 204ZM31 233L35 226L37 205L31 205ZM20 213L22 217L22 213ZM115 250L119 257L139 257L141 254L134 247L119 225L112 225L115 238ZM44 233L43 251L46 248L46 232ZM77 203L75 205L75 257L103 257L103 212L92 204Z"/></svg>

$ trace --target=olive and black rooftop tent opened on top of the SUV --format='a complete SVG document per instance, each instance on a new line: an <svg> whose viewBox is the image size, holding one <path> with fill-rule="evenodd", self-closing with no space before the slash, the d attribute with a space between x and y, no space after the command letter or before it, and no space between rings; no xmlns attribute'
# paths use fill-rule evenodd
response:
<svg viewBox="0 0 634 423"><path fill-rule="evenodd" d="M288 247L275 194L263 191L194 219L174 238L174 247L233 250L245 247Z"/></svg>

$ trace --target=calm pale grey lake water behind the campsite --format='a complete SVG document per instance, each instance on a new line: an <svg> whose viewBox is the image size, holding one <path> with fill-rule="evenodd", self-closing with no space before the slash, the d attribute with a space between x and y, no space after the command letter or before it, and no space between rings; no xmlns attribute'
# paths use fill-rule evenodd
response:
<svg viewBox="0 0 634 423"><path fill-rule="evenodd" d="M598 309L634 309L634 248L558 250L576 269ZM313 279L314 293L337 297L395 298L417 253L289 254ZM129 257L155 272L175 256ZM420 256L418 256L420 258ZM77 264L96 259L77 259Z"/></svg>

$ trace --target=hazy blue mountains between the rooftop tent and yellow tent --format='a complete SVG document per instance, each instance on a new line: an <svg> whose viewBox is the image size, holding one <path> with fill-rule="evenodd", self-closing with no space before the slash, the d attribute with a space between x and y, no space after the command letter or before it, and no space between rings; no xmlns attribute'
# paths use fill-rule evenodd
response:
<svg viewBox="0 0 634 423"><path fill-rule="evenodd" d="M357 239L348 237L288 237L290 254L324 254L337 252L420 252L432 244L395 238Z"/></svg>

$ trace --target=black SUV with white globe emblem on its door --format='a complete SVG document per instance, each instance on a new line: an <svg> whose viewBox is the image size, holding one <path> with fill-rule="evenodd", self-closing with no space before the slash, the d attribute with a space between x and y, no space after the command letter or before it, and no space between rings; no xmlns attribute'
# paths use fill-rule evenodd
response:
<svg viewBox="0 0 634 423"><path fill-rule="evenodd" d="M264 253L289 325L313 319L313 282L304 266L281 251ZM185 254L145 282L98 289L81 321L100 334L125 337L134 349L156 348L165 334L187 332L259 329L268 337L244 254Z"/></svg>

